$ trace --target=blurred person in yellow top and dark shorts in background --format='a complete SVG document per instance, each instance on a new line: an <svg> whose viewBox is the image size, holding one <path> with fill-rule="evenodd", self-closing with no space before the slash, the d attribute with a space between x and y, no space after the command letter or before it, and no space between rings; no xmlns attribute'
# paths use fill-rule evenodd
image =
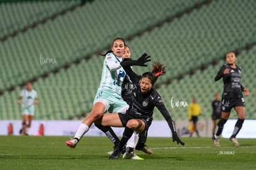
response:
<svg viewBox="0 0 256 170"><path fill-rule="evenodd" d="M194 134L194 132L197 133L197 137L199 136L199 132L197 129L197 121L198 121L198 116L202 114L202 109L200 105L197 103L197 99L193 97L192 103L189 104L189 110L188 110L188 116L189 116L189 126L190 126L190 136Z"/></svg>

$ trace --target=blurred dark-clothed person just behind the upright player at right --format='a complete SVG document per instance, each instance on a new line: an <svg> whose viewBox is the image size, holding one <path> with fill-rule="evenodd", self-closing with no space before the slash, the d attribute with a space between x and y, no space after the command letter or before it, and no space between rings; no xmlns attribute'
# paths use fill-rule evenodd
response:
<svg viewBox="0 0 256 170"><path fill-rule="evenodd" d="M220 118L221 118L221 100L220 100L220 94L218 92L215 94L215 99L211 102L211 108L213 109L211 119L213 120L213 135L214 135L217 123L218 121L220 121Z"/></svg>

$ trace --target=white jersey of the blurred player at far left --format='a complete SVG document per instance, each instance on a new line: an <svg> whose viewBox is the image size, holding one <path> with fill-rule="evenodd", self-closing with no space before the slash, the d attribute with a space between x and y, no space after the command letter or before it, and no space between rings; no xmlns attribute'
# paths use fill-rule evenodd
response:
<svg viewBox="0 0 256 170"><path fill-rule="evenodd" d="M22 107L31 107L35 103L35 99L37 99L37 92L32 89L32 91L28 91L27 89L23 89L20 92L20 97L22 97Z"/></svg>

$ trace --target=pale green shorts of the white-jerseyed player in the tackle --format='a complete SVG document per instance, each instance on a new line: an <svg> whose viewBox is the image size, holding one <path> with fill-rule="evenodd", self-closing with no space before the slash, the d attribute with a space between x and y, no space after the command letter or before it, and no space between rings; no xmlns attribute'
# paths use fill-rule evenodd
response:
<svg viewBox="0 0 256 170"><path fill-rule="evenodd" d="M101 102L105 105L105 112L119 113L125 112L129 105L122 99L121 95L112 91L97 91L93 105L96 102Z"/></svg>

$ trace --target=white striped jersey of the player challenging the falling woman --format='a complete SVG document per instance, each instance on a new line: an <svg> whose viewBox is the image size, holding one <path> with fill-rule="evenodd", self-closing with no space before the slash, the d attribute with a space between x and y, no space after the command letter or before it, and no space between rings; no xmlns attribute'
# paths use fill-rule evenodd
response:
<svg viewBox="0 0 256 170"><path fill-rule="evenodd" d="M122 58L116 57L113 53L106 55L98 91L109 90L121 95L121 85L126 76L126 72L120 65L121 61Z"/></svg>

